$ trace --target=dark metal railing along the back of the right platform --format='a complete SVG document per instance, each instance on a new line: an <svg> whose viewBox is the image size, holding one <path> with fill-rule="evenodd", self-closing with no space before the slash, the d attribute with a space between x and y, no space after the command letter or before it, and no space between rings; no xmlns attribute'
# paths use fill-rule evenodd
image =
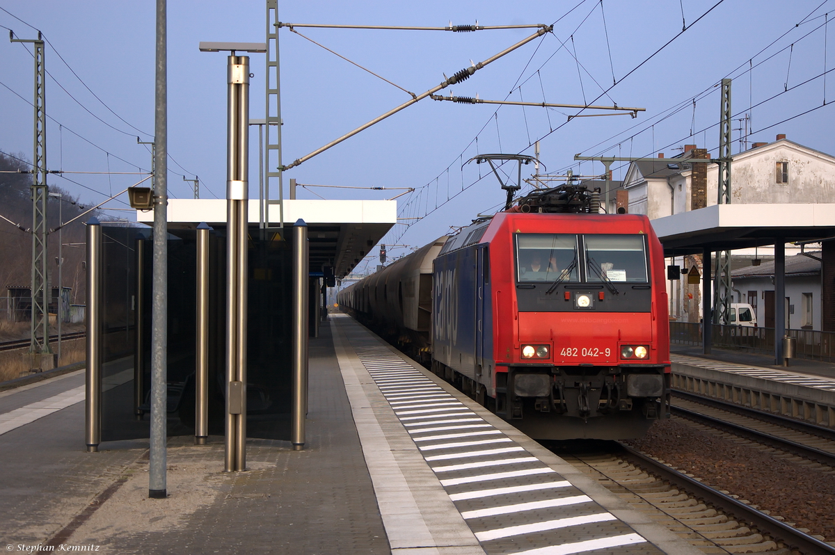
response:
<svg viewBox="0 0 835 555"><path fill-rule="evenodd" d="M753 328L742 325L711 324L711 346L772 354L774 328ZM786 330L795 338L795 358L814 361L835 361L835 332L818 330ZM670 342L678 345L701 345L701 323L670 322Z"/></svg>

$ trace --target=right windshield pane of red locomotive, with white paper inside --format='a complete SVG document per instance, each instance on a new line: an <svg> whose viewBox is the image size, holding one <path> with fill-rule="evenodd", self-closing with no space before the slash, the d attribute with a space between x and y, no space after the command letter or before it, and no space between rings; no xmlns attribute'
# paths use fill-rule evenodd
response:
<svg viewBox="0 0 835 555"><path fill-rule="evenodd" d="M585 235L586 280L646 283L644 235Z"/></svg>

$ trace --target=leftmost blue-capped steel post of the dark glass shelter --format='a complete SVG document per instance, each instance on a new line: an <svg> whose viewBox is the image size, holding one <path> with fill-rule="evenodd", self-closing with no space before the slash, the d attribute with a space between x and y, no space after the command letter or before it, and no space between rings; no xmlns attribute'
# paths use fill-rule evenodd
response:
<svg viewBox="0 0 835 555"><path fill-rule="evenodd" d="M84 440L87 452L99 451L102 419L102 226L87 222L87 372L84 401Z"/></svg>

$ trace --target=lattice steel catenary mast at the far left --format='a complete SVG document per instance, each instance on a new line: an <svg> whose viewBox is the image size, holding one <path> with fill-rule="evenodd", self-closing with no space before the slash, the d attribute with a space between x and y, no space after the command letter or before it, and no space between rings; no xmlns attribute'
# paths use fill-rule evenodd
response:
<svg viewBox="0 0 835 555"><path fill-rule="evenodd" d="M29 328L30 368L41 370L48 361L49 350L49 298L52 291L48 284L47 263L47 114L46 114L46 68L43 58L43 38L38 31L37 39L14 38L13 43L33 43L35 60L34 83L34 136L33 136L33 179L32 179L32 319ZM38 337L38 332L40 337ZM49 363L48 363L49 364ZM49 365L51 368L52 366Z"/></svg>

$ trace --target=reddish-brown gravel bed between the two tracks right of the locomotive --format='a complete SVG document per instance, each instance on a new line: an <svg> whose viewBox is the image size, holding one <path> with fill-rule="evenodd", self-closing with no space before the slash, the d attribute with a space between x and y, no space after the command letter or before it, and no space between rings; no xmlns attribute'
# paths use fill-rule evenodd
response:
<svg viewBox="0 0 835 555"><path fill-rule="evenodd" d="M681 420L658 421L631 447L747 499L809 533L835 539L835 473L775 457L701 431Z"/></svg>

